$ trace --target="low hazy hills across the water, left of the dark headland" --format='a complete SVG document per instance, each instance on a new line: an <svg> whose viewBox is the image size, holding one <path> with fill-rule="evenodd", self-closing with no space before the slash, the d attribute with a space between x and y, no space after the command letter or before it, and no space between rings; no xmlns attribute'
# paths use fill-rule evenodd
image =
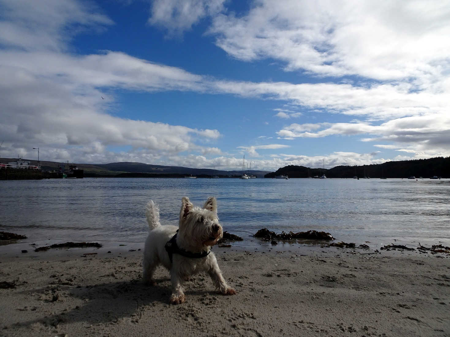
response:
<svg viewBox="0 0 450 337"><path fill-rule="evenodd" d="M9 163L17 158L2 158L0 163ZM28 159L24 159L28 160ZM31 165L36 165L36 160L28 160ZM70 163L72 164L72 163ZM53 161L40 161L43 171L58 171L60 167L67 168L67 163ZM184 177L193 175L196 177L233 177L242 174L242 171L224 171L211 168L188 168L182 166L164 166L144 163L120 162L109 164L77 164L78 168L84 170L85 177ZM269 171L251 170L250 173L258 178L264 177Z"/></svg>

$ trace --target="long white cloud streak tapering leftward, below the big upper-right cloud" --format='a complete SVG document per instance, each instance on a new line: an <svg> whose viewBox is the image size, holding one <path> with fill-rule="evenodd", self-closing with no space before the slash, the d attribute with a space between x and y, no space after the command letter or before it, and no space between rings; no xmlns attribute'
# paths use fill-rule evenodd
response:
<svg viewBox="0 0 450 337"><path fill-rule="evenodd" d="M326 111L343 115L386 120L390 118L424 115L450 108L447 91L412 91L413 85L368 84L352 87L350 84L291 84L284 82L252 83L212 81L217 93L233 93L244 98L284 100L315 112Z"/></svg>

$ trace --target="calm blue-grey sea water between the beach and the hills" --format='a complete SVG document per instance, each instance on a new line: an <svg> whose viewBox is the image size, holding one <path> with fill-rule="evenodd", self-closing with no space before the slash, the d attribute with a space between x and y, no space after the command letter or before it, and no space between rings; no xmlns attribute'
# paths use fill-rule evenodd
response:
<svg viewBox="0 0 450 337"><path fill-rule="evenodd" d="M397 243L450 246L450 180L430 179L153 179L84 178L1 181L0 231L24 243L133 243L148 233L144 205L160 205L162 224L176 224L181 198L218 200L225 231L252 248L259 229L330 232L372 248ZM5 249L5 247L0 247Z"/></svg>

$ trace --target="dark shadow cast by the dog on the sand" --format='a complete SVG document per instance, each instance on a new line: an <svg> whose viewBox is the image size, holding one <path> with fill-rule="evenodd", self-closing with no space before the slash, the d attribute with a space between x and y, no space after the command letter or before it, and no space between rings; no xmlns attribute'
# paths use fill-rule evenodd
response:
<svg viewBox="0 0 450 337"><path fill-rule="evenodd" d="M81 305L73 305L75 307L70 309L61 309L62 311L56 312L54 315L21 322L20 325L30 326L31 324L41 323L46 326L56 327L61 323L114 323L118 322L119 319L133 321L138 319L140 313L146 307L154 306L156 302L165 304L168 309L171 307L169 304L171 295L170 279L156 279L156 282L157 285L149 286L144 284L142 279L131 279L129 281L101 283L81 288L63 287L60 291L64 294L62 301L64 301L64 297L76 297L81 299L83 303ZM211 289L207 287L204 290L199 290L195 287L189 287L189 283L191 282L187 282L186 289L186 295L189 297L216 293L211 284ZM71 299L69 299L70 301Z"/></svg>

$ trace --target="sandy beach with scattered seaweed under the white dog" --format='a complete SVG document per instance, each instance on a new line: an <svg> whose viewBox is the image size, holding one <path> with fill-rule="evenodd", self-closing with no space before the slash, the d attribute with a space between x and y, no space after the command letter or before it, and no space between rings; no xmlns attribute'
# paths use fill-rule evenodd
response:
<svg viewBox="0 0 450 337"><path fill-rule="evenodd" d="M448 254L232 249L214 251L238 294L196 275L176 306L167 270L142 283L137 249L2 256L0 335L450 336Z"/></svg>

